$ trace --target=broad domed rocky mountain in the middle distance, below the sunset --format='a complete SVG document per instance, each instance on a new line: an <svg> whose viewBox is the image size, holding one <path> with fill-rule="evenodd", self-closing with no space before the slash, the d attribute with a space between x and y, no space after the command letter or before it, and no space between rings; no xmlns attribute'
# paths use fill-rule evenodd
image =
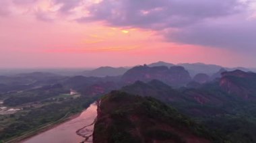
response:
<svg viewBox="0 0 256 143"><path fill-rule="evenodd" d="M136 66L128 70L121 80L124 83L134 83L135 81L151 81L158 79L172 85L174 87L181 87L191 81L191 77L187 70L182 66Z"/></svg>

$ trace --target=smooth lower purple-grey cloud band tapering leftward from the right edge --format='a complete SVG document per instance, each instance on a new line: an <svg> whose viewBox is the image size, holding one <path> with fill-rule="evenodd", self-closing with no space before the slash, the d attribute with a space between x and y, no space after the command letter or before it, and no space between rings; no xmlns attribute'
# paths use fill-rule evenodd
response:
<svg viewBox="0 0 256 143"><path fill-rule="evenodd" d="M181 30L164 33L167 40L183 44L197 44L234 48L236 50L256 49L256 20L235 17L205 21Z"/></svg>

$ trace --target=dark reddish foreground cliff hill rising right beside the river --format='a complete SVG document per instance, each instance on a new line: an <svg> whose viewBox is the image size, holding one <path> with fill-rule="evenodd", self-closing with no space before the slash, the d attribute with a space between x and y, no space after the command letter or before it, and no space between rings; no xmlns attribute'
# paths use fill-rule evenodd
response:
<svg viewBox="0 0 256 143"><path fill-rule="evenodd" d="M104 96L94 125L94 143L207 143L212 138L176 109L152 97L121 91Z"/></svg>

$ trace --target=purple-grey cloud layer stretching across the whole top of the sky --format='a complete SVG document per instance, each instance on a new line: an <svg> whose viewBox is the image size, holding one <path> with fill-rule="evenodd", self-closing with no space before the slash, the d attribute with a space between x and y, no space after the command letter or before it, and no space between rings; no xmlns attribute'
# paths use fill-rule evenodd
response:
<svg viewBox="0 0 256 143"><path fill-rule="evenodd" d="M104 21L154 30L179 44L256 48L256 0L1 0L0 17L20 7L41 21Z"/></svg>

